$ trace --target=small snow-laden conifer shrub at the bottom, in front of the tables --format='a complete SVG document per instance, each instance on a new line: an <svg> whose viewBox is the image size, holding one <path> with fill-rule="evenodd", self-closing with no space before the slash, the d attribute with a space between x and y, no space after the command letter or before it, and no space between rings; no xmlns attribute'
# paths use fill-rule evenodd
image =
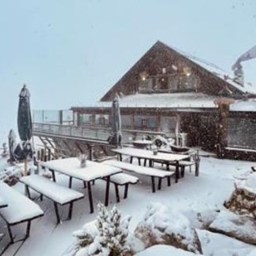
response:
<svg viewBox="0 0 256 256"><path fill-rule="evenodd" d="M102 203L98 204L98 217L94 222L74 232L78 242L76 256L102 255L122 256L130 251L128 226L130 217L122 219L116 206L110 212Z"/></svg>

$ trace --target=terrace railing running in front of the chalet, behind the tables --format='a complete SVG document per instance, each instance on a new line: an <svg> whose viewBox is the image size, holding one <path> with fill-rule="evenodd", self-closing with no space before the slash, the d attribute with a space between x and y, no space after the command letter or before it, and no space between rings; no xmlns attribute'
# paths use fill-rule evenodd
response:
<svg viewBox="0 0 256 256"><path fill-rule="evenodd" d="M111 129L99 126L62 126L58 124L34 122L33 132L35 135L48 134L106 141L111 134ZM133 138L138 138L143 135L154 137L156 135L165 136L165 133L146 130L122 130L122 143L129 143Z"/></svg>

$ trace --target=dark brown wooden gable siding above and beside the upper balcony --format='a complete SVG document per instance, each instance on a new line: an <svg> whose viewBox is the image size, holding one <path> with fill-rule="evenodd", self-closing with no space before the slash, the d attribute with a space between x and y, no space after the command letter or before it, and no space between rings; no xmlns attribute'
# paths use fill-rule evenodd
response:
<svg viewBox="0 0 256 256"><path fill-rule="evenodd" d="M138 92L139 74L145 72L150 76L158 76L162 74L162 68L166 68L167 74L174 73L172 65L182 68L189 66L193 74L196 74L200 78L198 83L198 92L210 95L218 95L226 87L232 91L234 95L242 95L242 91L232 86L229 82L224 81L222 78L218 78L210 71L199 66L197 63L192 62L189 58L186 58L177 51L166 46L162 42L156 42L154 46L142 56L138 62L135 63L131 69L124 74L124 76L102 97L101 101L112 101L116 93L122 93L124 95L135 94Z"/></svg>

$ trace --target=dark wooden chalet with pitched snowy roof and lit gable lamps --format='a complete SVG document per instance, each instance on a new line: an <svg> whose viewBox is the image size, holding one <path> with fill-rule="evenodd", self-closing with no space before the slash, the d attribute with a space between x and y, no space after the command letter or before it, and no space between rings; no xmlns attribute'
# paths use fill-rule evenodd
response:
<svg viewBox="0 0 256 256"><path fill-rule="evenodd" d="M74 126L110 127L111 103L120 98L122 129L187 134L187 146L219 157L256 152L256 90L213 65L156 42L96 106L73 106Z"/></svg>

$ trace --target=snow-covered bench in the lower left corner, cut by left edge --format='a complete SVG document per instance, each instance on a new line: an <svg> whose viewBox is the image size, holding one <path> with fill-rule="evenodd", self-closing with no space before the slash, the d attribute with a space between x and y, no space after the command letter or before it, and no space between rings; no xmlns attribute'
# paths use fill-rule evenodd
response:
<svg viewBox="0 0 256 256"><path fill-rule="evenodd" d="M6 183L0 183L0 194L6 204L8 204L8 206L0 209L0 215L7 224L10 243L14 243L11 226L22 222L27 222L26 236L18 241L26 240L26 238L30 236L31 221L43 215L42 209L29 198L26 198L26 196L19 193L17 190L14 190Z"/></svg>

